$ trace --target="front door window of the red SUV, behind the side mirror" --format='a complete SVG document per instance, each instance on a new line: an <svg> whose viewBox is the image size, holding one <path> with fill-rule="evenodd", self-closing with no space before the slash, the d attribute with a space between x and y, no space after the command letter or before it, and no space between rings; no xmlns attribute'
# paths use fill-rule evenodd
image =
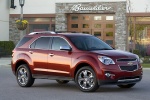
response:
<svg viewBox="0 0 150 100"><path fill-rule="evenodd" d="M66 40L60 37L54 37L52 43L52 50L60 50L60 46L69 46Z"/></svg>

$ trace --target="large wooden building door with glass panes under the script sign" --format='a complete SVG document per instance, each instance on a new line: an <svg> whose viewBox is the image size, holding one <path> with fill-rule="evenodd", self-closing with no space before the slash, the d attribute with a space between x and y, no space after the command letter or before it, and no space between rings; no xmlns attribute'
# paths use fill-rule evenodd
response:
<svg viewBox="0 0 150 100"><path fill-rule="evenodd" d="M114 14L68 14L68 31L92 34L114 47Z"/></svg>

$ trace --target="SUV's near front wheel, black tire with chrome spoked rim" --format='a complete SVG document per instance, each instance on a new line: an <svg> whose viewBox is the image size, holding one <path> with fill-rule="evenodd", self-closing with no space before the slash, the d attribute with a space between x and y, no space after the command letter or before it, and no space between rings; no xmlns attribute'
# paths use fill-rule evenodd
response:
<svg viewBox="0 0 150 100"><path fill-rule="evenodd" d="M96 74L89 66L82 67L77 71L75 82L83 92L94 92L99 87Z"/></svg>

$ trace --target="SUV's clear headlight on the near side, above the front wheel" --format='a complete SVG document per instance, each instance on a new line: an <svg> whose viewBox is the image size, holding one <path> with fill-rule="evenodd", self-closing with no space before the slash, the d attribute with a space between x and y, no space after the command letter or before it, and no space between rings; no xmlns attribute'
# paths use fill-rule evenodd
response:
<svg viewBox="0 0 150 100"><path fill-rule="evenodd" d="M105 65L115 64L115 62L106 56L98 56L98 59Z"/></svg>

